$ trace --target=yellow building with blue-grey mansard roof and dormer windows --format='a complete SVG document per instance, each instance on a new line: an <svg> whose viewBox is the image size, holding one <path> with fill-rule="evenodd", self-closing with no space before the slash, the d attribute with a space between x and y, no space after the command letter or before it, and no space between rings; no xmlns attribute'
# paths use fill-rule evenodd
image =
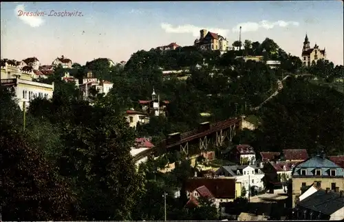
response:
<svg viewBox="0 0 344 222"><path fill-rule="evenodd" d="M344 169L323 154L312 157L295 166L292 171L292 207L311 185L333 192L344 190Z"/></svg>

